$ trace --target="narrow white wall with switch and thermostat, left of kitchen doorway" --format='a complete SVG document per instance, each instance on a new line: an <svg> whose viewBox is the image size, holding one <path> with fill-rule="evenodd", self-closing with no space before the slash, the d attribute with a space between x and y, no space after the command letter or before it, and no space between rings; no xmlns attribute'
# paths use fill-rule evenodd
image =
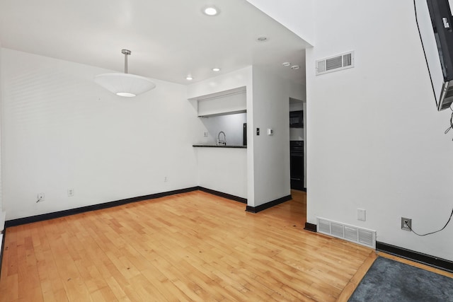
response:
<svg viewBox="0 0 453 302"><path fill-rule="evenodd" d="M253 204L271 202L290 193L289 95L290 84L260 66L253 66ZM260 135L256 135L260 128ZM269 136L267 129L273 129ZM250 139L248 139L250 141Z"/></svg>

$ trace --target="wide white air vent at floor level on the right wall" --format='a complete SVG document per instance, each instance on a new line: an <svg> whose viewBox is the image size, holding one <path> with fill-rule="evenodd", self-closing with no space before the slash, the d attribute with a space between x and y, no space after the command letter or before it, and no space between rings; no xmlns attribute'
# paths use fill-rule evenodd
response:
<svg viewBox="0 0 453 302"><path fill-rule="evenodd" d="M369 248L376 248L376 231L319 217L316 220L319 233L365 245Z"/></svg>

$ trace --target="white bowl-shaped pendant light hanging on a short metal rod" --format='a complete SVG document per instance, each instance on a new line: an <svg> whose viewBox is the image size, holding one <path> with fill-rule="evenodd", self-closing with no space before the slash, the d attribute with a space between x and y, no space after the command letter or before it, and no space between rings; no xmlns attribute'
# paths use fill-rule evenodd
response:
<svg viewBox="0 0 453 302"><path fill-rule="evenodd" d="M125 73L99 74L94 81L116 95L132 97L150 91L156 84L144 76L127 74L127 56L130 50L121 50L125 55Z"/></svg>

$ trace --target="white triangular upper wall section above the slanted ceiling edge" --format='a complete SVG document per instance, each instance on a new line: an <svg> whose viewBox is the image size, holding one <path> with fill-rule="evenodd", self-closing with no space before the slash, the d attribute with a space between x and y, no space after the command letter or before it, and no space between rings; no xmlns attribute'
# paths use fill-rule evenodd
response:
<svg viewBox="0 0 453 302"><path fill-rule="evenodd" d="M314 45L313 0L247 0L256 8L285 25L306 42Z"/></svg>

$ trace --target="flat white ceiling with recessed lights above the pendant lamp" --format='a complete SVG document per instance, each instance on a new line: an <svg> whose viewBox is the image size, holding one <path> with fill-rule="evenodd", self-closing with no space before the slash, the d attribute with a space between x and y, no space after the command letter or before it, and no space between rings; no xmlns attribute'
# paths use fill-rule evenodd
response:
<svg viewBox="0 0 453 302"><path fill-rule="evenodd" d="M221 13L205 16L207 4ZM246 0L0 0L0 42L115 71L124 71L128 49L130 74L183 84L251 64L304 83L308 46Z"/></svg>

